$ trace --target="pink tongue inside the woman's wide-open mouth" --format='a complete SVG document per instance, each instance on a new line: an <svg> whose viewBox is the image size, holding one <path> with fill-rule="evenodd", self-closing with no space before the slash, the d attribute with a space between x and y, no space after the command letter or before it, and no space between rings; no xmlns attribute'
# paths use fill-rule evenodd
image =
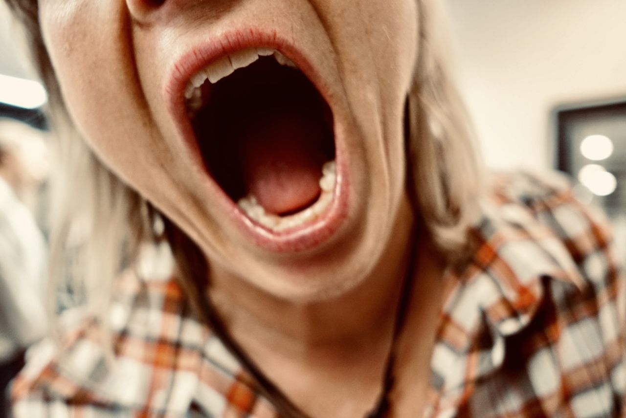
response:
<svg viewBox="0 0 626 418"><path fill-rule="evenodd" d="M247 125L239 138L240 164L248 193L265 212L296 212L317 198L323 140L319 121L299 113L265 114Z"/></svg>

